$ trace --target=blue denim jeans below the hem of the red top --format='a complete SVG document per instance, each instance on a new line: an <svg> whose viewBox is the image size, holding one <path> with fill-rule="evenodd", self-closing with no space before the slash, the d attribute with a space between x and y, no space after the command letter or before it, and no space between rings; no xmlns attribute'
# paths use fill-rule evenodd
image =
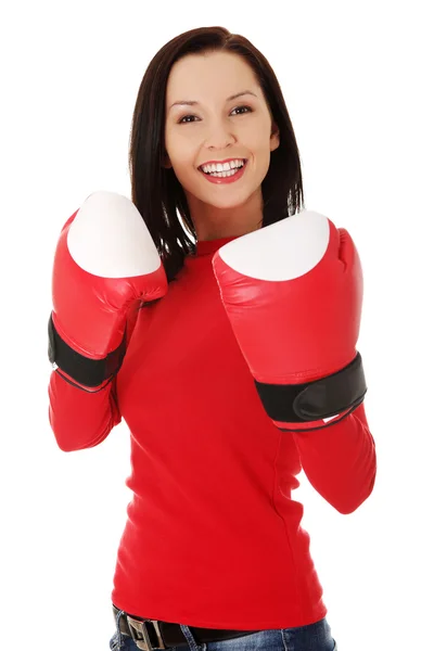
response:
<svg viewBox="0 0 434 651"><path fill-rule="evenodd" d="M122 611L118 613L118 617ZM330 625L324 617L320 622L295 628L271 628L252 633L220 642L196 643L189 626L181 624L186 644L171 647L169 651L337 651ZM110 640L111 651L137 651L135 640L119 630Z"/></svg>

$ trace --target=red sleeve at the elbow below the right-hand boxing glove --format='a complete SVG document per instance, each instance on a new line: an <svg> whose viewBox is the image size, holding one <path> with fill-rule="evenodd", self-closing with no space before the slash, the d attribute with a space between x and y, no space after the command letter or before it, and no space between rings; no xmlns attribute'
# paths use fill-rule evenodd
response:
<svg viewBox="0 0 434 651"><path fill-rule="evenodd" d="M365 404L322 430L292 432L303 470L314 488L340 513L353 513L372 493L375 442Z"/></svg>

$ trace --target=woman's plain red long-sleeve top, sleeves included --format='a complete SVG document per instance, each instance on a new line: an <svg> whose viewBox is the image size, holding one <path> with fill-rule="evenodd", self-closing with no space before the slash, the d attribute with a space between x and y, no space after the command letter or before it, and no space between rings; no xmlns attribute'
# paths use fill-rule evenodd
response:
<svg viewBox="0 0 434 651"><path fill-rule="evenodd" d="M266 414L199 242L168 294L129 320L113 383L88 394L53 371L49 418L65 451L99 445L124 418L132 497L111 599L133 615L190 626L289 628L326 616L292 497L302 468L339 512L375 478L365 407L324 430L284 433Z"/></svg>

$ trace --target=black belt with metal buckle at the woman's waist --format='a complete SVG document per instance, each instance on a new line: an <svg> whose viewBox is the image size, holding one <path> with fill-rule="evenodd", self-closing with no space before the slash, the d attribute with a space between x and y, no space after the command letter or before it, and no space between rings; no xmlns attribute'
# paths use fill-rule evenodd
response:
<svg viewBox="0 0 434 651"><path fill-rule="evenodd" d="M115 622L117 621L117 609L113 604L113 613ZM189 626L194 640L199 644L205 642L218 642L230 638L242 637L258 633L257 630L229 630L224 628L197 628ZM125 611L119 617L119 630L124 635L131 637L138 649L152 651L153 649L169 649L170 647L182 647L188 644L188 641L182 633L179 624L170 622L161 622L158 620L146 620L130 615Z"/></svg>

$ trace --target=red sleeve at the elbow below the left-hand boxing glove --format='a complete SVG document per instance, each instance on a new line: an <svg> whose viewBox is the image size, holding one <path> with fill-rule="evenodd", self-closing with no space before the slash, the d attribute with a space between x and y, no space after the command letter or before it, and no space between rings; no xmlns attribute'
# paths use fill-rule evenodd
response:
<svg viewBox="0 0 434 651"><path fill-rule="evenodd" d="M138 314L136 305L127 319L127 347ZM120 422L116 382L117 376L101 391L87 393L52 371L48 387L49 421L61 450L71 452L94 447Z"/></svg>

